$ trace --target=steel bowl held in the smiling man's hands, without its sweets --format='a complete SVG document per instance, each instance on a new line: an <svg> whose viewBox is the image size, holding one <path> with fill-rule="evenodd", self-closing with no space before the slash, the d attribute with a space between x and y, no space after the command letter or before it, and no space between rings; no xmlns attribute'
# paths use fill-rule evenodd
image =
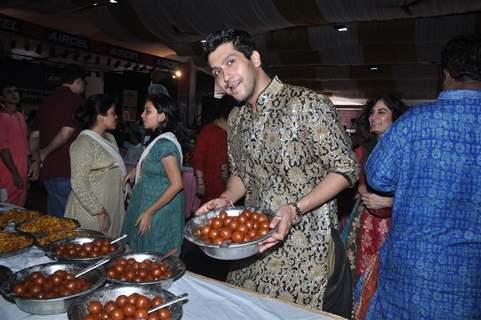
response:
<svg viewBox="0 0 481 320"><path fill-rule="evenodd" d="M271 210L259 208L233 207L225 209L225 212L229 216L238 216L245 209L249 209L250 211L262 212L268 215L270 220L274 217L274 212L272 212ZM206 255L212 258L220 260L238 260L253 256L258 252L258 243L270 237L274 232L273 230L270 230L265 236L249 242L226 242L221 245L206 243L194 235L196 229L206 224L210 218L218 216L222 210L223 209L215 209L213 211L207 212L204 215L194 217L186 223L184 228L184 237L187 240L198 245Z"/></svg>

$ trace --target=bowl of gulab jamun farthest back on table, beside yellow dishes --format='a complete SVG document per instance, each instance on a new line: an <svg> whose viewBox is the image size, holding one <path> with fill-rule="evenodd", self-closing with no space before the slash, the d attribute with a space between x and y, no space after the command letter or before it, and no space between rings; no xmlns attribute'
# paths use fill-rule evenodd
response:
<svg viewBox="0 0 481 320"><path fill-rule="evenodd" d="M58 261L90 263L124 251L124 240L113 244L110 243L112 240L99 235L66 238L50 243L45 254Z"/></svg>

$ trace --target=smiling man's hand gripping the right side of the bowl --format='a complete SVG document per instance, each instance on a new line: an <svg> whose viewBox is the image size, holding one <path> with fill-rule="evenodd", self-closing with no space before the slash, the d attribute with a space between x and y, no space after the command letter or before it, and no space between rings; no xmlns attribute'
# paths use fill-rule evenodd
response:
<svg viewBox="0 0 481 320"><path fill-rule="evenodd" d="M296 209L290 204L285 204L277 209L276 215L271 221L269 227L274 229L277 227L276 232L269 238L259 243L259 252L264 252L267 249L275 246L279 242L283 241L289 233L289 229L296 218Z"/></svg>

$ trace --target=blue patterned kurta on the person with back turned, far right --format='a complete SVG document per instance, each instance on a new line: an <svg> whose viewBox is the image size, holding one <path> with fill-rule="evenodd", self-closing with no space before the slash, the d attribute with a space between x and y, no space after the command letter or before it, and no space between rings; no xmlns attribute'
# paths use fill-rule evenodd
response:
<svg viewBox="0 0 481 320"><path fill-rule="evenodd" d="M411 108L366 176L394 191L367 319L481 319L481 90Z"/></svg>

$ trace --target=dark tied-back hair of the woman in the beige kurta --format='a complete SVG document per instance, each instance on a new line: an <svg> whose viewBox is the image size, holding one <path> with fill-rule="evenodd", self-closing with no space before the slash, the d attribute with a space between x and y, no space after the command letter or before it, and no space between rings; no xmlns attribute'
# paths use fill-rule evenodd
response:
<svg viewBox="0 0 481 320"><path fill-rule="evenodd" d="M111 96L107 94L94 94L88 97L83 106L75 110L73 120L81 129L91 129L97 121L97 116L107 115L107 111L113 105L114 99Z"/></svg>

